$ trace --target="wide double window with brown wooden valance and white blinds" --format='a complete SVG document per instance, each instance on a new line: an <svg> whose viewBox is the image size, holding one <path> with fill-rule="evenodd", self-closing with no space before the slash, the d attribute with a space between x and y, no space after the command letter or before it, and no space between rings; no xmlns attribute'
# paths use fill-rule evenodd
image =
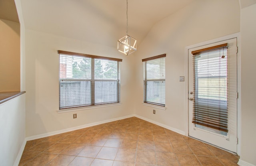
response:
<svg viewBox="0 0 256 166"><path fill-rule="evenodd" d="M60 51L59 108L120 102L122 59Z"/></svg>

